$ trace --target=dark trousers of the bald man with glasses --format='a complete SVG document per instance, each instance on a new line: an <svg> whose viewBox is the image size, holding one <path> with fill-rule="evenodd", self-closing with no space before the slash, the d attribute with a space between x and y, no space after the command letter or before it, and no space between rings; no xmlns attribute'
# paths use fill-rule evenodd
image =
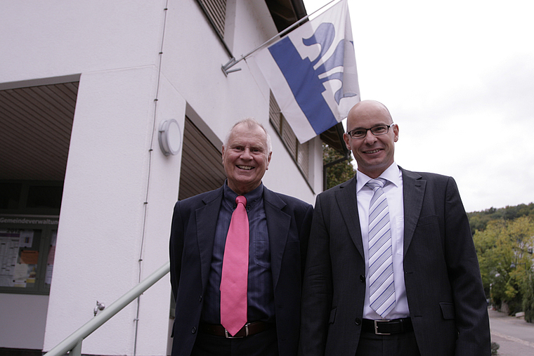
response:
<svg viewBox="0 0 534 356"><path fill-rule="evenodd" d="M356 356L421 356L415 334L407 332L393 335L362 333Z"/></svg>

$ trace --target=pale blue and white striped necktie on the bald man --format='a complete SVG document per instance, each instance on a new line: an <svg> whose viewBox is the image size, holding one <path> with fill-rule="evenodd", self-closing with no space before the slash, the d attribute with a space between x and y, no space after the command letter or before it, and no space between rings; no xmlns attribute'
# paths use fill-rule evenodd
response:
<svg viewBox="0 0 534 356"><path fill-rule="evenodd" d="M389 209L382 190L385 183L382 178L367 182L373 190L369 206L369 298L371 308L382 318L395 307Z"/></svg>

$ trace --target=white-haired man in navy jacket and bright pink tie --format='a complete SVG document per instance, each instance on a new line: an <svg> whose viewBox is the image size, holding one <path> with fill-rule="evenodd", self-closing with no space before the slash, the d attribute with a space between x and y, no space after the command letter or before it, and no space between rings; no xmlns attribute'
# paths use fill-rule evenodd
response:
<svg viewBox="0 0 534 356"><path fill-rule="evenodd" d="M174 206L172 355L296 355L312 206L261 183L272 152L257 121L222 152L226 183Z"/></svg>

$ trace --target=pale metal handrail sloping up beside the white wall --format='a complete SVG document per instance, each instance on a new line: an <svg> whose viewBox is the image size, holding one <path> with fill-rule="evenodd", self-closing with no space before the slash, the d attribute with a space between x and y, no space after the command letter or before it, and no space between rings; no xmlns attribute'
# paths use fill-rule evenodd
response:
<svg viewBox="0 0 534 356"><path fill-rule="evenodd" d="M65 340L58 343L52 350L46 352L44 356L63 356L67 354L67 352L69 352L70 356L82 355L82 341L84 341L84 338L91 335L93 331L111 319L111 317L117 314L117 312L122 310L122 308L131 303L138 296L141 296L141 294L149 289L150 286L159 281L159 279L162 279L164 275L167 275L170 269L170 262L162 265L162 267L158 268L152 275L146 277L141 283L130 289L124 296L117 299L117 301L113 302L108 308L105 308L96 317L93 317L89 322L86 322L77 331L74 331L70 336L65 338Z"/></svg>

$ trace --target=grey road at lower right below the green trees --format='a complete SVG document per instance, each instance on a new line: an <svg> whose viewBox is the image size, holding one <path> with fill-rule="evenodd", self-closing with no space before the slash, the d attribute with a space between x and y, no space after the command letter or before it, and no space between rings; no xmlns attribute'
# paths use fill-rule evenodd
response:
<svg viewBox="0 0 534 356"><path fill-rule="evenodd" d="M534 356L534 324L504 312L488 312L491 341L500 345L499 356Z"/></svg>

